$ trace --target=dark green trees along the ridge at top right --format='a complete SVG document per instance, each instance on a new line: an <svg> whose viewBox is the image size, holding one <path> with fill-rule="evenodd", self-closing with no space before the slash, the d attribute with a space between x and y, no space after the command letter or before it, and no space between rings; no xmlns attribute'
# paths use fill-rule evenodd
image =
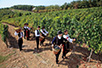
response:
<svg viewBox="0 0 102 68"><path fill-rule="evenodd" d="M71 3L64 3L61 9L81 9L102 6L102 0L77 0Z"/></svg>

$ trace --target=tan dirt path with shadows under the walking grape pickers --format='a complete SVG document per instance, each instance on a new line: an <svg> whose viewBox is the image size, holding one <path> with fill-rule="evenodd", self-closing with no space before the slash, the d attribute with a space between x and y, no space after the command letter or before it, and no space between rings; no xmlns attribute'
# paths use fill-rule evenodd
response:
<svg viewBox="0 0 102 68"><path fill-rule="evenodd" d="M4 54L10 54L10 58L3 62L0 68L57 68L58 66L55 64L55 56L51 51L50 45L46 47L40 47L40 53L33 53L36 48L35 40L27 41L23 39L23 51L19 51L17 45L18 37L14 35L14 26L9 26L9 46L11 48L3 51ZM31 34L32 36L32 34ZM45 43L49 43L50 41L46 40ZM85 52L85 53L84 53ZM88 55L88 51L85 48L76 47L74 52L69 52L67 56L69 59L65 59L62 61L62 54L60 55L59 67L58 68L97 68L95 65L97 62L86 63L82 60L83 56ZM93 61L94 61L93 60ZM102 66L102 65L101 65Z"/></svg>

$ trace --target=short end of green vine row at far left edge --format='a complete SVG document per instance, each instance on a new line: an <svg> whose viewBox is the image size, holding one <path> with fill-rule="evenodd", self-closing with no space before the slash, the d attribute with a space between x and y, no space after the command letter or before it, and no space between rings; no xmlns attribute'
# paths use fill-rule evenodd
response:
<svg viewBox="0 0 102 68"><path fill-rule="evenodd" d="M6 43L6 39L8 37L8 25L3 25L1 22L0 22L0 34L1 34L1 37L2 37L2 40Z"/></svg>

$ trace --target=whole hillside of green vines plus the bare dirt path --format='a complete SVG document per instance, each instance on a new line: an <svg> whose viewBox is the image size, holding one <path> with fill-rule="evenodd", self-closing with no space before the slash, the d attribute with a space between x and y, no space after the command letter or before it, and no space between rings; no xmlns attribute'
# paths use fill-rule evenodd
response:
<svg viewBox="0 0 102 68"><path fill-rule="evenodd" d="M6 48L0 37L0 59L4 59L0 61L1 68L57 68L50 42L57 35L58 30L65 29L68 30L71 38L76 39L76 42L70 44L74 48L67 54L68 59L62 61L60 55L59 68L102 68L102 7L44 13L1 9L0 23L9 26L7 40L9 48ZM29 41L24 39L23 51L20 52L17 45L18 37L14 36L14 28L23 27L25 23L29 23L32 33ZM40 47L40 52L33 54L36 50L33 33L38 25L45 26L49 36L45 41L46 46ZM91 62L87 62L90 50L93 50L92 59Z"/></svg>

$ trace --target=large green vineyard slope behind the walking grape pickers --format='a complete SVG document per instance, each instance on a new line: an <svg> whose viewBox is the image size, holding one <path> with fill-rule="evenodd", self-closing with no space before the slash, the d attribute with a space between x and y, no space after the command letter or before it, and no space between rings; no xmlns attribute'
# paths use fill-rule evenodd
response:
<svg viewBox="0 0 102 68"><path fill-rule="evenodd" d="M95 53L102 50L102 7L61 10L45 13L32 13L13 9L0 10L0 21L23 27L24 23L35 30L38 25L45 26L49 37L57 35L58 30L68 30L76 43L86 43Z"/></svg>

